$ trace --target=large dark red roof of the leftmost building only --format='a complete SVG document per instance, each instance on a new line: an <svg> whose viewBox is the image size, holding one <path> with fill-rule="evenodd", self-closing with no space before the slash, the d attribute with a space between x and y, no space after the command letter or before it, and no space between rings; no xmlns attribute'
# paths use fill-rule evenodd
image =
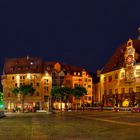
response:
<svg viewBox="0 0 140 140"><path fill-rule="evenodd" d="M3 72L5 74L42 73L43 61L39 57L7 58Z"/></svg>

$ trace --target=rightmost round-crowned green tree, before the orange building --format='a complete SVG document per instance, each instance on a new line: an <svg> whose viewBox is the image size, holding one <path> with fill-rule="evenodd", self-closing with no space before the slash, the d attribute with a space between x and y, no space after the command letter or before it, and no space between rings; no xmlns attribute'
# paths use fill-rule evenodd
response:
<svg viewBox="0 0 140 140"><path fill-rule="evenodd" d="M84 87L76 86L75 88L72 89L72 95L76 99L76 109L77 109L77 106L78 106L77 100L81 100L81 97L83 97L86 94L87 94L87 90Z"/></svg>

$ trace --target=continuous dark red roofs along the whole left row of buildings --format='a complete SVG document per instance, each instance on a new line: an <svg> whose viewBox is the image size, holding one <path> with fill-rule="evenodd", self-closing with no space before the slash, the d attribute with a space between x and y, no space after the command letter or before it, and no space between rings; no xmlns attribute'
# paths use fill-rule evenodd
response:
<svg viewBox="0 0 140 140"><path fill-rule="evenodd" d="M54 69L54 65L59 63L62 70L71 73L82 72L83 67L71 66L61 62L45 62L39 57L21 57L21 58L8 58L5 60L4 73L17 74L17 73L49 73Z"/></svg>

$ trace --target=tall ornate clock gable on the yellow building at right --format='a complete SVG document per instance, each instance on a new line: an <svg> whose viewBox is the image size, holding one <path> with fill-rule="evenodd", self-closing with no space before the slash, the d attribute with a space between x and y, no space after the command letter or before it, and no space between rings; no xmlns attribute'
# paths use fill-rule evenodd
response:
<svg viewBox="0 0 140 140"><path fill-rule="evenodd" d="M133 47L133 40L129 39L127 42L125 54L125 75L126 82L133 82L134 78L134 63L135 63L135 48Z"/></svg>

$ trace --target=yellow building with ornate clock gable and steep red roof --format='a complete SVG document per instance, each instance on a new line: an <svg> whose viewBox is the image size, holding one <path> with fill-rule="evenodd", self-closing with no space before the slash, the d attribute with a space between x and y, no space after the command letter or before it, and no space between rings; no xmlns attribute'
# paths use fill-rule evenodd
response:
<svg viewBox="0 0 140 140"><path fill-rule="evenodd" d="M118 57L117 55L120 55L119 51L116 52L118 54L112 57L105 70L110 69L116 62L122 67L103 72L100 75L101 91L99 94L101 94L101 101L104 106L136 106L139 104L140 64L137 57L138 46L134 46L138 43L129 39L126 46L120 49L122 59L115 60Z"/></svg>

